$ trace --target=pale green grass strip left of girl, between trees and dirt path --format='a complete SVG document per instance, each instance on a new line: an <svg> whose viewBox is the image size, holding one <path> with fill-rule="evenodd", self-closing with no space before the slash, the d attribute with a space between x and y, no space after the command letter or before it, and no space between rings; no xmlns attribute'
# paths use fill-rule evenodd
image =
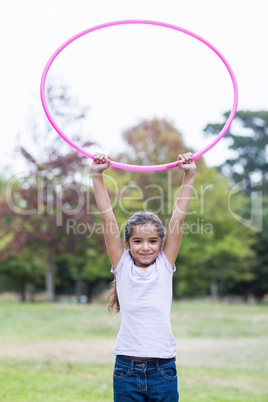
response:
<svg viewBox="0 0 268 402"><path fill-rule="evenodd" d="M119 320L101 304L0 303L0 337L13 339L114 337Z"/></svg>

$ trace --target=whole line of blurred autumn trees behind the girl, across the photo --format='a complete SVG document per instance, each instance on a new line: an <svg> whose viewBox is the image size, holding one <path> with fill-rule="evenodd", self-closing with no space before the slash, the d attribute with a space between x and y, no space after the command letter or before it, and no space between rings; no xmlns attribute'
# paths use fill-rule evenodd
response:
<svg viewBox="0 0 268 402"><path fill-rule="evenodd" d="M81 135L88 109L72 103L63 86L48 88L48 102L76 142L90 149L93 142ZM224 137L233 158L218 167L206 166L202 157L196 160L176 261L175 298L241 295L261 300L268 292L268 111L238 111L235 123ZM204 131L215 135L223 125L208 124ZM86 294L91 301L112 276L90 160L63 144L47 123L37 122L32 131L38 151L20 146L18 153L27 163L27 175L2 177L0 183L0 292L16 291L25 300L26 292L45 290L50 301L61 294L75 294L78 300ZM119 162L162 164L195 151L163 119L140 122L123 139L125 152L111 155ZM127 218L143 209L155 212L167 227L182 172L110 168L105 176L121 233Z"/></svg>

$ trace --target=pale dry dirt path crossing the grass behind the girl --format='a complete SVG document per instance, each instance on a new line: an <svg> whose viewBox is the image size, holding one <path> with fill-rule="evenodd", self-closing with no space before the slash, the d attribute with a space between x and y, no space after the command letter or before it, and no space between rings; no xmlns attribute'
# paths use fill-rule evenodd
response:
<svg viewBox="0 0 268 402"><path fill-rule="evenodd" d="M36 359L113 363L115 339L9 340L0 339L0 359ZM177 362L182 366L268 368L268 338L177 339Z"/></svg>

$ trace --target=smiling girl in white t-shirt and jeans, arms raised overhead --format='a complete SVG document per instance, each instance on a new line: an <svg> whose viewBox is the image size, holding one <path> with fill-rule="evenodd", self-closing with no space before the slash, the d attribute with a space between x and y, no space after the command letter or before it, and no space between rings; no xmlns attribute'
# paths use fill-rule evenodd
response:
<svg viewBox="0 0 268 402"><path fill-rule="evenodd" d="M114 401L179 400L176 342L171 330L172 276L180 247L183 221L190 203L196 166L191 153L178 156L184 170L166 241L160 219L151 212L138 212L127 222L124 244L103 181L110 165L96 154L92 179L104 227L107 251L115 275L109 310L120 310L121 327L114 347Z"/></svg>

